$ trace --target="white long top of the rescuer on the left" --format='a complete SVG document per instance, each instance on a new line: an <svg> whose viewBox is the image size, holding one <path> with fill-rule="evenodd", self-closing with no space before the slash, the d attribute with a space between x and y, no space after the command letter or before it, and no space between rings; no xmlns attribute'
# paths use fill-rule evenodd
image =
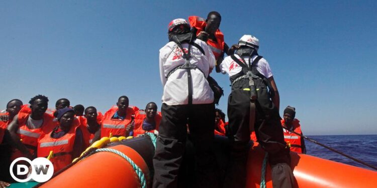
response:
<svg viewBox="0 0 377 188"><path fill-rule="evenodd" d="M195 43L203 48L205 55L195 46L191 46L192 57L190 63L200 69L191 70L193 79L193 104L209 104L213 102L214 95L207 82L207 77L209 70L215 67L215 56L205 42L197 39ZM188 47L189 44L182 44L182 48L186 53ZM169 76L169 79L165 78L172 69L185 63L185 59L182 58L182 55L183 53L180 48L174 42L169 42L160 49L160 78L164 86L162 103L167 105L189 103L187 71L185 69L178 69Z"/></svg>

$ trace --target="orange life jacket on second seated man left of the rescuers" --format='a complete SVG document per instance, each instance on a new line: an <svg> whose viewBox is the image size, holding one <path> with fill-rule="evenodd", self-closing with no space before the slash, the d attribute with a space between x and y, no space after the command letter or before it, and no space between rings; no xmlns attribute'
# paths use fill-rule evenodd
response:
<svg viewBox="0 0 377 188"><path fill-rule="evenodd" d="M124 120L121 120L112 118L118 111L118 106L113 106L112 108L110 108L110 110L108 110L102 118L101 137L109 136L110 133L112 133L113 136L125 136L127 125L133 123L133 119L135 117L134 109L138 108L129 106L127 109L126 117L124 118Z"/></svg>

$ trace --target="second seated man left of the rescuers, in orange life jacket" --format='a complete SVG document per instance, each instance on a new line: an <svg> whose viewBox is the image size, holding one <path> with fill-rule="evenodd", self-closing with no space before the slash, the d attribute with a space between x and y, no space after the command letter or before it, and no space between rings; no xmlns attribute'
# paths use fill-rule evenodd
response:
<svg viewBox="0 0 377 188"><path fill-rule="evenodd" d="M101 123L101 137L129 136L134 126L134 110L128 106L128 97L121 96L117 106L110 108Z"/></svg>

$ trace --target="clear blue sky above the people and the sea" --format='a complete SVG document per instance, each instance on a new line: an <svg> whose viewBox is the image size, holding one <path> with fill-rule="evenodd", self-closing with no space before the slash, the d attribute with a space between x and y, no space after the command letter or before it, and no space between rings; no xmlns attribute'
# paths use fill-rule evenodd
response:
<svg viewBox="0 0 377 188"><path fill-rule="evenodd" d="M305 134L377 134L375 1L1 1L0 109L37 94L102 112L121 95L161 106L158 50L175 18L222 15L230 46L260 40L280 93ZM225 90L227 75L212 76Z"/></svg>

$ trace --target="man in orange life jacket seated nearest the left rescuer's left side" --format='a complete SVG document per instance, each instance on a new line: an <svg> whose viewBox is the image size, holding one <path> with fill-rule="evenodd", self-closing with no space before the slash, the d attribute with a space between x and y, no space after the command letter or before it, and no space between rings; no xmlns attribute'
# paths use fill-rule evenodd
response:
<svg viewBox="0 0 377 188"><path fill-rule="evenodd" d="M148 103L145 107L145 110L138 110L135 112L135 126L133 130L133 136L138 136L146 132L158 134L160 121L161 115L157 113L156 103Z"/></svg>

